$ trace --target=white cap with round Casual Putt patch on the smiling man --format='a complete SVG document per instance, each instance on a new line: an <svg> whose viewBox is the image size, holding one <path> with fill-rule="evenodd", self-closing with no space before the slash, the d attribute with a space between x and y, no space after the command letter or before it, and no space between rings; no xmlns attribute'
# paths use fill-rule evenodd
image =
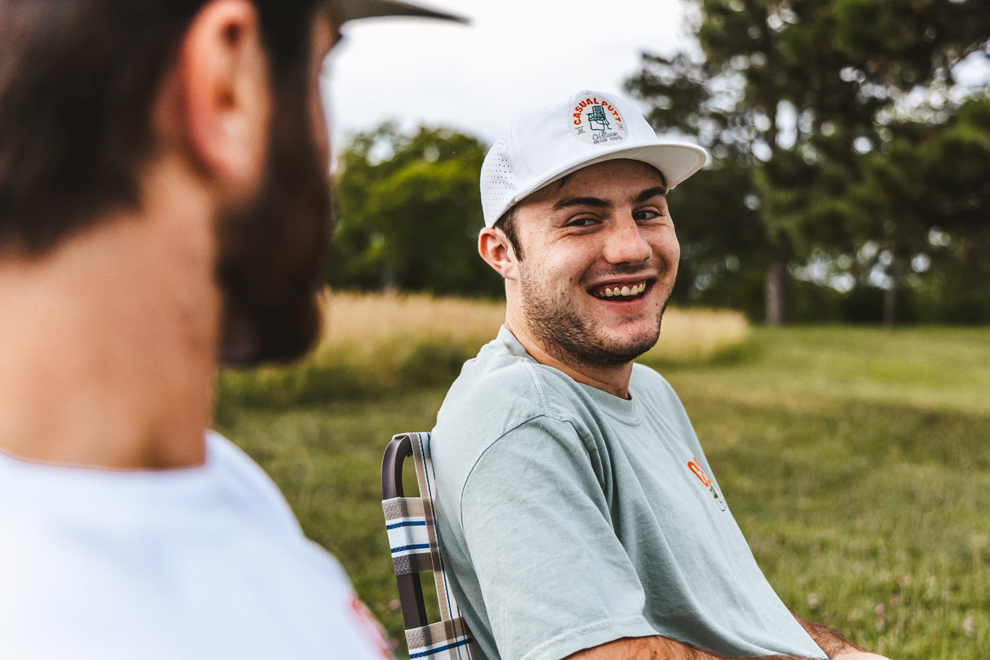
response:
<svg viewBox="0 0 990 660"><path fill-rule="evenodd" d="M701 169L708 152L698 145L658 140L640 111L615 94L585 90L564 103L523 110L481 165L485 226L494 226L509 208L547 183L617 159L653 165L672 188Z"/></svg>

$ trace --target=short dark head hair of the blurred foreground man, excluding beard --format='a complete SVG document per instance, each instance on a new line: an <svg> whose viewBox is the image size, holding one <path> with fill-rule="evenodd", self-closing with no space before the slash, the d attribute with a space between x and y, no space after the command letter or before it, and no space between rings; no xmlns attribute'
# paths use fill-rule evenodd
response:
<svg viewBox="0 0 990 660"><path fill-rule="evenodd" d="M204 0L0 0L0 249L41 254L140 202L150 109ZM272 79L305 66L313 0L256 0Z"/></svg>

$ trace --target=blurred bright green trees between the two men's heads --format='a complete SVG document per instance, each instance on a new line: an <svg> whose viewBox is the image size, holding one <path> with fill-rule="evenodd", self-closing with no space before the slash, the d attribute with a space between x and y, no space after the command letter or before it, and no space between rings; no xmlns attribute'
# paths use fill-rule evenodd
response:
<svg viewBox="0 0 990 660"><path fill-rule="evenodd" d="M362 290L494 295L477 256L478 172L487 147L449 129L354 136L338 165L329 281Z"/></svg>

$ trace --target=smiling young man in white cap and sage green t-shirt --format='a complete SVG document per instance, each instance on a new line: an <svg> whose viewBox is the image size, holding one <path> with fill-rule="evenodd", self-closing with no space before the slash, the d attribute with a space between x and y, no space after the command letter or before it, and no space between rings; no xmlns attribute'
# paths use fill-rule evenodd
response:
<svg viewBox="0 0 990 660"><path fill-rule="evenodd" d="M485 159L505 325L432 453L451 590L489 660L880 657L781 603L676 394L634 364L677 275L667 191L705 160L592 91L516 115Z"/></svg>

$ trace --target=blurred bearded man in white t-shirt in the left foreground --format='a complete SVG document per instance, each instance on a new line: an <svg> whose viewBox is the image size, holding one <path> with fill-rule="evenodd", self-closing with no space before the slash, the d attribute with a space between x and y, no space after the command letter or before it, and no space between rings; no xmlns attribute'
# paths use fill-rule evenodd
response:
<svg viewBox="0 0 990 660"><path fill-rule="evenodd" d="M381 658L223 361L320 327L317 90L389 0L0 0L0 657Z"/></svg>

